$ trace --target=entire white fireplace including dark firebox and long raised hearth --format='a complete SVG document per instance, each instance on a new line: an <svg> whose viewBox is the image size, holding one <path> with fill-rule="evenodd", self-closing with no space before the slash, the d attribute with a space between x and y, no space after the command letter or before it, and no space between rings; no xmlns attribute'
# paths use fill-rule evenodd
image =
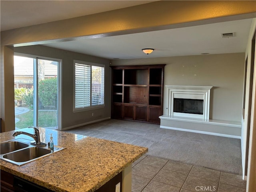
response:
<svg viewBox="0 0 256 192"><path fill-rule="evenodd" d="M168 96L164 100L166 110L159 117L160 128L241 138L241 122L210 119L211 88L166 85Z"/></svg>

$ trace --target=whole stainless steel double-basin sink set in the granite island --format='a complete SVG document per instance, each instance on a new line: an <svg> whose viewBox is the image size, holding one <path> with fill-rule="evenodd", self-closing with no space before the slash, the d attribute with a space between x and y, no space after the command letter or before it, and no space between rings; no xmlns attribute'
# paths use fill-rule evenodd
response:
<svg viewBox="0 0 256 192"><path fill-rule="evenodd" d="M54 150L50 150L47 147L34 146L30 142L19 138L1 143L0 159L21 166L64 149L54 146Z"/></svg>

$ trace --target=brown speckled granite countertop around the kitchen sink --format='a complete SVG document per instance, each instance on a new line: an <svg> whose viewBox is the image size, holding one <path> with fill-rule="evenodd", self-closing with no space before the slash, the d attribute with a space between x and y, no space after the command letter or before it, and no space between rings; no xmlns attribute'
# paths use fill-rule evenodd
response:
<svg viewBox="0 0 256 192"><path fill-rule="evenodd" d="M122 172L148 151L148 148L93 137L39 128L41 142L65 149L22 166L0 160L1 170L58 192L93 192ZM33 133L32 128L19 131ZM15 138L33 140L14 131L0 134L1 142Z"/></svg>

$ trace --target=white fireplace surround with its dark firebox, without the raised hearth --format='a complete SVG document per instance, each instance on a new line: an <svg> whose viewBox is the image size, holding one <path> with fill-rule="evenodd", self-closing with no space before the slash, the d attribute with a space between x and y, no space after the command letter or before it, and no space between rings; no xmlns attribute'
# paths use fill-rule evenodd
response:
<svg viewBox="0 0 256 192"><path fill-rule="evenodd" d="M168 116L209 120L212 86L166 86Z"/></svg>

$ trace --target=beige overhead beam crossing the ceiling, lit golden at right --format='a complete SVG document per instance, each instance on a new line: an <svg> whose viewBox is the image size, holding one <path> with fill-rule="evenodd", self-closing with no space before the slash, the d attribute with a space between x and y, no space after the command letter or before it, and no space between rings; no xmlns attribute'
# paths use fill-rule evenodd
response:
<svg viewBox="0 0 256 192"><path fill-rule="evenodd" d="M254 17L253 1L156 1L1 32L1 44L35 45L99 38ZM150 18L150 22L148 21ZM66 39L67 40L67 39ZM65 40L65 41L66 41Z"/></svg>

